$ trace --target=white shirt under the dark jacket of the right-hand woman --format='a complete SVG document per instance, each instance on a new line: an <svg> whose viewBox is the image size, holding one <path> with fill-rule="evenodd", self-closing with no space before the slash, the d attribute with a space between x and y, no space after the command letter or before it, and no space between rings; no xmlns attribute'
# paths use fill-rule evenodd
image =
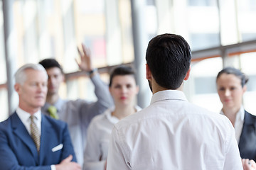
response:
<svg viewBox="0 0 256 170"><path fill-rule="evenodd" d="M220 114L225 115L223 111L220 111ZM242 127L245 122L245 108L241 106L240 110L235 116L235 139L239 144L240 136L242 134Z"/></svg>

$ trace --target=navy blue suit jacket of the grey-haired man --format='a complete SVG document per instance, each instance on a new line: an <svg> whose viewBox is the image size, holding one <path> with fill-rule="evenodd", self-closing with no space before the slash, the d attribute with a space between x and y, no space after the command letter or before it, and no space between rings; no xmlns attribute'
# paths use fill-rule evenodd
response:
<svg viewBox="0 0 256 170"><path fill-rule="evenodd" d="M76 161L68 125L60 120L42 114L39 154L16 112L0 123L0 170L50 170L70 154Z"/></svg>

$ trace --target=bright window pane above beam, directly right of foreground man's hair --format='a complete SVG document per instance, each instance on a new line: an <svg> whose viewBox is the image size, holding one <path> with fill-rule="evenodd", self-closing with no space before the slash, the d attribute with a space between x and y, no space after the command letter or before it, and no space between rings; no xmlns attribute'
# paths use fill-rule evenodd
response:
<svg viewBox="0 0 256 170"><path fill-rule="evenodd" d="M188 40L192 50L220 45L220 21L216 1L189 1Z"/></svg>

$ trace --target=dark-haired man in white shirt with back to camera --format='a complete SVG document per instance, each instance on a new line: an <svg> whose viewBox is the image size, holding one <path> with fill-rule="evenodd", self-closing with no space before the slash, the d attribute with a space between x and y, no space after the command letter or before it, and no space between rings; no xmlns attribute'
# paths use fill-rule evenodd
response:
<svg viewBox="0 0 256 170"><path fill-rule="evenodd" d="M228 118L188 103L182 92L190 65L191 50L180 35L149 42L151 104L114 125L107 169L242 170Z"/></svg>

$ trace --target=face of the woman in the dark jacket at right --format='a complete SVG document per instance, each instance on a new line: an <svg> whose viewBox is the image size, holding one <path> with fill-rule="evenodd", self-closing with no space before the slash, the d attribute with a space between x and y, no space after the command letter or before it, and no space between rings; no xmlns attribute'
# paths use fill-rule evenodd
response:
<svg viewBox="0 0 256 170"><path fill-rule="evenodd" d="M234 74L221 74L217 79L217 89L224 108L240 108L246 87L242 88L239 77Z"/></svg>

